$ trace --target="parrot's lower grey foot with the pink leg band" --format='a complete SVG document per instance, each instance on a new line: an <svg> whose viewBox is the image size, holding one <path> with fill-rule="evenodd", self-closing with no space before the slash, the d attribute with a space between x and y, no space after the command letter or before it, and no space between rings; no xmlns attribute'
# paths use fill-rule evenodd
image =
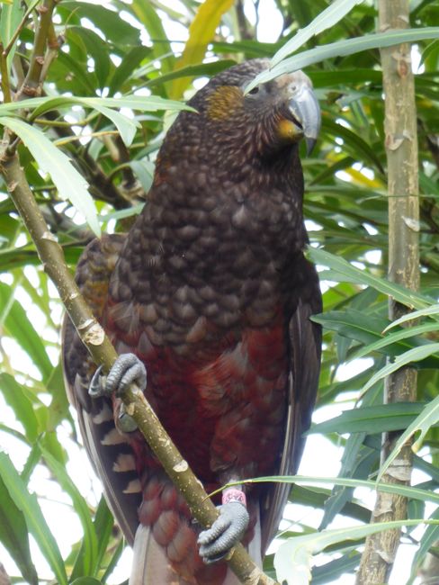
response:
<svg viewBox="0 0 439 585"><path fill-rule="evenodd" d="M249 517L244 503L244 493L240 493L242 497L236 500L228 498L226 503L219 506L219 518L215 520L209 530L200 533L198 544L204 563L215 563L215 561L222 559L244 536ZM225 501L224 498L223 501Z"/></svg>

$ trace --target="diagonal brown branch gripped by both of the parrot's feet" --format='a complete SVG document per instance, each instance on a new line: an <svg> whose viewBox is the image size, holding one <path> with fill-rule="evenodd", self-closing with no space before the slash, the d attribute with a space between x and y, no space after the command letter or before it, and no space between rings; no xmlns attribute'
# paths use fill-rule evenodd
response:
<svg viewBox="0 0 439 585"><path fill-rule="evenodd" d="M0 170L4 175L10 197L35 243L44 270L57 287L78 335L85 343L94 362L103 365L104 371L108 371L117 357L116 351L79 292L67 268L63 250L50 233L40 213L40 208L32 196L17 153L8 154L5 144L0 150ZM193 475L172 443L143 392L133 384L124 392L121 399L166 473L183 495L193 518L203 527L211 526L218 518L218 510L203 490L202 483ZM274 581L253 563L242 545L237 545L233 549L228 564L245 585L275 585Z"/></svg>

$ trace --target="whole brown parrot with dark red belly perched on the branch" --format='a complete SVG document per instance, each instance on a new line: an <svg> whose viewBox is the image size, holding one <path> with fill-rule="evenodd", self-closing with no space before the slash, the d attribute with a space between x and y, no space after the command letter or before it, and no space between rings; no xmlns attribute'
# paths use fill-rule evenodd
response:
<svg viewBox="0 0 439 585"><path fill-rule="evenodd" d="M242 537L261 563L288 488L228 489L219 519L202 531L118 390L144 388L207 491L295 473L309 428L321 345L309 316L321 297L303 255L299 143L317 138L320 111L300 71L245 94L268 64L231 67L193 96L196 112L181 112L167 132L130 233L94 240L77 266L120 357L107 376L94 373L66 321L67 388L134 547L131 585L237 583L220 559Z"/></svg>

